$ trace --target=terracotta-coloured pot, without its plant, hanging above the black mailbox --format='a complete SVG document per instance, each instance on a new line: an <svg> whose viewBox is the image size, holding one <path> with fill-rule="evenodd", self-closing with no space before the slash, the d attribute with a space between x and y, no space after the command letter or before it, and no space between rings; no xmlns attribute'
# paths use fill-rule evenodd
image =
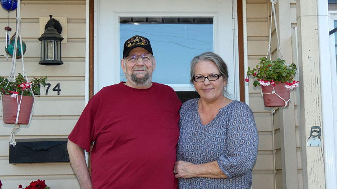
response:
<svg viewBox="0 0 337 189"><path fill-rule="evenodd" d="M18 97L19 103L21 96ZM17 98L12 98L10 95L2 96L2 112L3 112L3 122L9 124L15 124L17 113L18 113L18 102ZM18 119L18 124L28 124L30 119L30 114L32 113L32 107L34 103L34 97L23 96L20 106L20 114Z"/></svg>

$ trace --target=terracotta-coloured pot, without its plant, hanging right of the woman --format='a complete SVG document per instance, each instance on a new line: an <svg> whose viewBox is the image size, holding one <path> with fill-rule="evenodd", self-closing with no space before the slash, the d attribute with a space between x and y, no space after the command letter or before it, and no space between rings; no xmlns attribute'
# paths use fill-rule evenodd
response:
<svg viewBox="0 0 337 189"><path fill-rule="evenodd" d="M271 93L273 91L273 88L275 90L275 93L279 95L282 99L287 101L286 106L289 106L289 99L290 99L290 90L284 87L284 83L277 83L275 86L269 85L267 87L261 86L262 92L265 93ZM284 102L280 97L278 97L276 94L268 94L263 95L263 100L265 102L265 107L277 107L277 106L284 106L286 102Z"/></svg>

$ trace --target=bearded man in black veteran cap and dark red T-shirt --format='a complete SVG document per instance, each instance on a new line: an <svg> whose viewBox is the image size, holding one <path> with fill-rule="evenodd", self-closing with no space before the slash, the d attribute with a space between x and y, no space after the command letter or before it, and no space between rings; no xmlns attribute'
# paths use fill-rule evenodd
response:
<svg viewBox="0 0 337 189"><path fill-rule="evenodd" d="M125 41L121 66L127 81L102 88L68 137L72 169L82 189L176 189L181 102L171 87L151 82L147 38ZM90 178L84 149L92 144Z"/></svg>

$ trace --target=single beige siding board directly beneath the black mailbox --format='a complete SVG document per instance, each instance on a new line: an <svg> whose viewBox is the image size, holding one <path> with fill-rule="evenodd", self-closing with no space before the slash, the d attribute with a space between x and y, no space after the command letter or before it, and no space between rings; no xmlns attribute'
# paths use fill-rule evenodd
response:
<svg viewBox="0 0 337 189"><path fill-rule="evenodd" d="M21 175L71 175L73 174L70 163L29 163L29 164L9 164L8 160L0 160L0 175L21 176ZM34 170L34 171L32 171Z"/></svg>

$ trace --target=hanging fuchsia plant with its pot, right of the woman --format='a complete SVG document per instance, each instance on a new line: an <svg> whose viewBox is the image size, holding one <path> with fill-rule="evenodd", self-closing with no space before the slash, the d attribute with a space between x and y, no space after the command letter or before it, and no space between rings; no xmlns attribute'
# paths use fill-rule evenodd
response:
<svg viewBox="0 0 337 189"><path fill-rule="evenodd" d="M249 76L253 76L253 85L261 86L266 107L288 106L290 90L296 88L299 82L294 80L296 65L287 65L281 59L272 61L264 57L259 60L255 68L248 67L245 81L248 82Z"/></svg>

